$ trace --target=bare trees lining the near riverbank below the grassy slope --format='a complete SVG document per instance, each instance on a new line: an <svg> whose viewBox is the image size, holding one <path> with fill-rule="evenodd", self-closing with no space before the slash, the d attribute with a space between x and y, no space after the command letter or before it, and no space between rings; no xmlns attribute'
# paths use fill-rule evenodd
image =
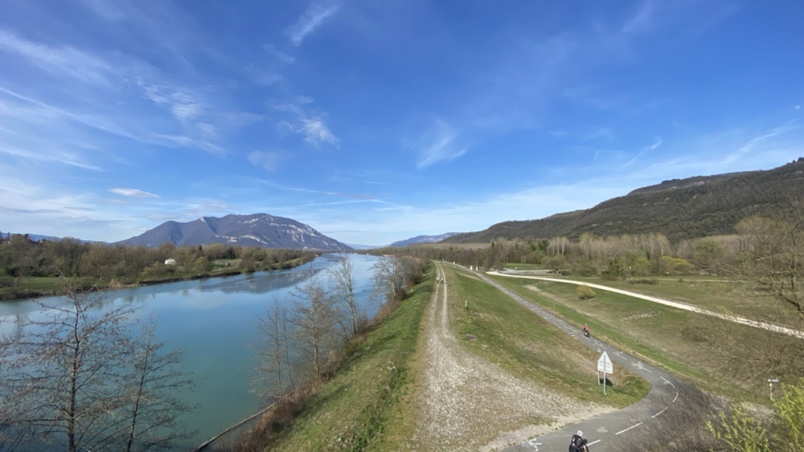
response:
<svg viewBox="0 0 804 452"><path fill-rule="evenodd" d="M427 261L402 253L378 257L372 266L380 312L393 310L424 276ZM338 348L364 331L367 318L355 299L354 264L347 254L326 273L310 269L286 300L273 300L258 319L257 390L265 398L326 377Z"/></svg>

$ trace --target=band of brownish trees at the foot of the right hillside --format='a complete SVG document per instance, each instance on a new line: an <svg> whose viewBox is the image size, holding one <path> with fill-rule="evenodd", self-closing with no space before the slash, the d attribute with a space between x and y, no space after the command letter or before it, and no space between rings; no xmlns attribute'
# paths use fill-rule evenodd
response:
<svg viewBox="0 0 804 452"><path fill-rule="evenodd" d="M408 253L454 261L461 265L497 268L507 264L540 264L556 272L617 277L691 274L731 275L756 281L802 310L804 202L783 217L751 217L736 225L736 234L683 240L673 244L660 233L579 240L495 239L486 246L414 245ZM790 213L792 212L792 213Z"/></svg>

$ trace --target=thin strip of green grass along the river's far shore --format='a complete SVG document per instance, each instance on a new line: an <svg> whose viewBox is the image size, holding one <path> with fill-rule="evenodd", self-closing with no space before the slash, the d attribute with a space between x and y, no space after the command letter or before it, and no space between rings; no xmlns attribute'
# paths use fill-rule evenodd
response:
<svg viewBox="0 0 804 452"><path fill-rule="evenodd" d="M183 267L176 267L170 274L152 275L148 277L130 277L122 279L100 279L93 277L71 278L72 286L79 289L99 290L117 289L125 286L143 286L150 284L160 284L162 282L187 281L191 279L201 279L205 277L230 276L240 273L254 271L290 269L298 265L309 262L314 257L299 257L289 261L279 262L273 265L264 265L254 269L244 269L240 267L239 259L221 259L211 262L211 269L204 272L188 271ZM12 300L16 298L35 298L50 295L58 295L64 289L64 280L59 277L21 277L8 278L13 281L6 287L0 287L0 300Z"/></svg>

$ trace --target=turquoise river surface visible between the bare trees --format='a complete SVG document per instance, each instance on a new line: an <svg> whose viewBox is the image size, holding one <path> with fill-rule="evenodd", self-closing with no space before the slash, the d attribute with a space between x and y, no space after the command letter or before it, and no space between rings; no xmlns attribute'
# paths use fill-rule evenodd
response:
<svg viewBox="0 0 804 452"><path fill-rule="evenodd" d="M274 300L291 303L294 287L310 276L310 269L326 272L337 256L325 254L293 269L246 273L230 277L179 281L154 286L113 290L105 306L137 303L142 318L158 317L157 339L166 347L183 347L183 370L191 372L195 389L183 397L197 409L187 425L197 434L178 450L192 450L237 421L256 413L262 401L252 392L256 365L256 319ZM371 300L372 270L376 257L353 254L355 298L367 318L377 307ZM59 298L38 302L55 306ZM45 318L31 300L0 302L0 334L14 335L25 319Z"/></svg>

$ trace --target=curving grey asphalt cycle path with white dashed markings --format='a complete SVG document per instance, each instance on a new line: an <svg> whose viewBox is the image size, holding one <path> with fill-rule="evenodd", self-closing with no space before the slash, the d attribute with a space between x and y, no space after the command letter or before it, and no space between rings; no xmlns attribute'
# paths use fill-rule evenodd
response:
<svg viewBox="0 0 804 452"><path fill-rule="evenodd" d="M498 290L503 291L504 294L515 299L521 305L527 307L527 309L538 314L556 327L559 327L568 335L572 336L572 338L579 340L601 355L605 351L612 362L613 372L616 373L617 368L628 368L631 372L645 378L651 386L650 392L648 392L648 395L642 399L642 401L626 409L621 409L600 417L594 417L593 419L577 424L567 425L549 434L537 438L530 438L527 442L516 446L510 446L503 450L507 452L565 452L568 450L569 440L572 438L572 434L575 434L578 430L583 430L584 438L589 441L589 450L593 450L594 452L613 451L614 446L616 446L618 442L623 442L629 435L638 434L640 429L646 429L651 422L661 422L662 414L668 413L668 411L674 409L674 407L680 409L679 400L684 397L683 388L687 386L674 376L650 364L644 363L608 343L596 339L594 337L594 331L592 331L592 337L586 338L582 331L579 331L578 328L571 323L564 321L563 318L520 297L519 294L515 294L506 287L501 286L496 281L486 277L485 274L475 274L482 277L484 281L496 287ZM603 386L601 385L601 392L602 391Z"/></svg>

